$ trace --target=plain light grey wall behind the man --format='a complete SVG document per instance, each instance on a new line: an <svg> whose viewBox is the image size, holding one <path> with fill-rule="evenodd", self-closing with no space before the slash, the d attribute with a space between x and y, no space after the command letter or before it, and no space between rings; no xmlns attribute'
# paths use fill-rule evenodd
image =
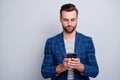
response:
<svg viewBox="0 0 120 80"><path fill-rule="evenodd" d="M120 79L120 0L0 0L0 80L44 80L44 45L61 32L59 9L68 2L79 9L77 31L94 41L94 80Z"/></svg>

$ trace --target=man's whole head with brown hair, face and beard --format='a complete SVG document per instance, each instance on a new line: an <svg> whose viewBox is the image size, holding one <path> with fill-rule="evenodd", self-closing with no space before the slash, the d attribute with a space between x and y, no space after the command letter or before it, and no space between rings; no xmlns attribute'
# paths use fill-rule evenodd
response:
<svg viewBox="0 0 120 80"><path fill-rule="evenodd" d="M77 26L78 10L73 4L64 4L60 9L60 21L63 31L72 33Z"/></svg>

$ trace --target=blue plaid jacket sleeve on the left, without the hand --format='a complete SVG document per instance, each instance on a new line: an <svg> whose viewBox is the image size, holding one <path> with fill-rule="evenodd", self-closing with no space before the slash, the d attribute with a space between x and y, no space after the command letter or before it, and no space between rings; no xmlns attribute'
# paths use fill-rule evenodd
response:
<svg viewBox="0 0 120 80"><path fill-rule="evenodd" d="M52 56L52 40L48 39L44 50L44 60L41 67L41 73L44 78L56 76L56 66Z"/></svg>

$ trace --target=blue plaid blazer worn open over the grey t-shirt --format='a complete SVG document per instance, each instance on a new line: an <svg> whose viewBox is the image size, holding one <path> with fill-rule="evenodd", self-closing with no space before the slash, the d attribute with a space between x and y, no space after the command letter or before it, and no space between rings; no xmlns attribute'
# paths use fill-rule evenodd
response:
<svg viewBox="0 0 120 80"><path fill-rule="evenodd" d="M99 69L95 57L95 48L90 37L76 32L74 52L84 64L85 70L83 73L75 70L75 80L89 80L89 77L96 77ZM56 74L56 66L62 64L66 57L63 33L60 33L52 38L49 38L45 45L44 60L41 67L41 73L44 78L52 80L67 80L68 71L61 74Z"/></svg>

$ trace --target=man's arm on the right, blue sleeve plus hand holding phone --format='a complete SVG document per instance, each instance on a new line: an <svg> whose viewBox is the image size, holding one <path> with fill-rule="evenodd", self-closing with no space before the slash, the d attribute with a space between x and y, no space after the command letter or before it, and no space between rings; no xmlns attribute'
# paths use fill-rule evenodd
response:
<svg viewBox="0 0 120 80"><path fill-rule="evenodd" d="M83 76L96 77L99 70L95 57L94 45L91 38L87 42L87 53L85 53L87 54L87 56L85 56L87 58L86 63L81 63L79 58L72 58L72 60L68 62L68 66L78 70Z"/></svg>

